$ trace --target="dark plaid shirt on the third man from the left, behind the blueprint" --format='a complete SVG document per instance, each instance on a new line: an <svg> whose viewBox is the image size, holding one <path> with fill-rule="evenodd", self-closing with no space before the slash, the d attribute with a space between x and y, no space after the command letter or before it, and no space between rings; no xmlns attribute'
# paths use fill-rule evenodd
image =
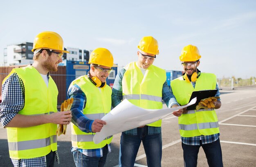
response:
<svg viewBox="0 0 256 167"><path fill-rule="evenodd" d="M126 69L122 68L121 70L119 70L119 73L115 78L115 82L112 88L112 107L114 108L123 100L122 79L125 72ZM175 104L179 105L173 93L170 91L170 88L168 87L166 81L164 82L162 88L162 99L166 103L168 108L171 108L171 106ZM161 127L148 126L148 134L159 134L160 132ZM128 135L137 135L137 128L127 130L124 133Z"/></svg>

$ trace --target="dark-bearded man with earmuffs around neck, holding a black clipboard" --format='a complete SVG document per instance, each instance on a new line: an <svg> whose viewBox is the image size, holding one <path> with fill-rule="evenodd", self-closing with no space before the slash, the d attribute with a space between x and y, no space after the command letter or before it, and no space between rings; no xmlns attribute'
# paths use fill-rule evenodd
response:
<svg viewBox="0 0 256 167"><path fill-rule="evenodd" d="M179 117L179 129L185 167L196 167L199 148L204 149L210 167L222 167L220 130L215 109L220 108L220 92L216 76L198 70L201 55L198 47L185 46L180 55L184 75L171 81L171 90L180 105L189 103L193 91L217 89L215 97L201 100L196 110L184 110ZM200 107L200 105L202 105ZM204 105L204 106L203 106ZM206 105L206 106L205 106Z"/></svg>

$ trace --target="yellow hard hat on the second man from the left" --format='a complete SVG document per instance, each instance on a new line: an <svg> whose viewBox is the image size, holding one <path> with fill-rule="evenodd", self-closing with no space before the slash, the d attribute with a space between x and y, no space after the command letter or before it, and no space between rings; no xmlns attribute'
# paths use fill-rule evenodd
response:
<svg viewBox="0 0 256 167"><path fill-rule="evenodd" d="M97 48L90 54L89 64L99 64L101 66L116 67L112 53L106 48Z"/></svg>

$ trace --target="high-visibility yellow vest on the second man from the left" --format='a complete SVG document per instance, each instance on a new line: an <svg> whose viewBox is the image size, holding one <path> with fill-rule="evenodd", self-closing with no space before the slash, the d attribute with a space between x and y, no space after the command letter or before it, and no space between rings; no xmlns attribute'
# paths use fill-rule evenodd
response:
<svg viewBox="0 0 256 167"><path fill-rule="evenodd" d="M104 88L97 88L87 77L83 75L70 84L78 85L81 90L85 93L86 96L86 105L83 109L83 114L88 119L101 119L111 110L111 93L112 90L110 86L106 85ZM112 136L108 136L101 143L95 144L93 142L93 134L85 133L81 131L76 125L71 123L71 139L72 147L80 149L97 149L102 148L106 144L109 144L112 141Z"/></svg>

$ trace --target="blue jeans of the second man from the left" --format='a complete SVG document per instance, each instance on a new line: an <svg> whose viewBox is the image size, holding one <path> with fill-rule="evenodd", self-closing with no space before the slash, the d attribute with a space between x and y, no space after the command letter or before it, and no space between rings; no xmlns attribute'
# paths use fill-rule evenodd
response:
<svg viewBox="0 0 256 167"><path fill-rule="evenodd" d="M108 155L108 145L103 147L102 157L86 156L78 150L73 151L73 157L76 167L104 167Z"/></svg>

